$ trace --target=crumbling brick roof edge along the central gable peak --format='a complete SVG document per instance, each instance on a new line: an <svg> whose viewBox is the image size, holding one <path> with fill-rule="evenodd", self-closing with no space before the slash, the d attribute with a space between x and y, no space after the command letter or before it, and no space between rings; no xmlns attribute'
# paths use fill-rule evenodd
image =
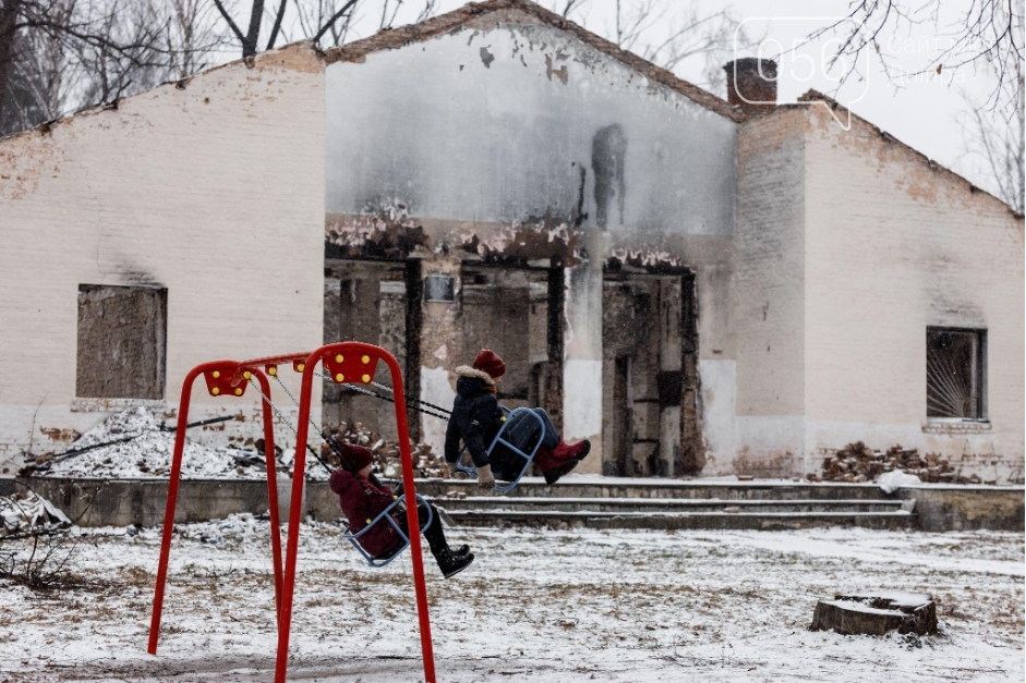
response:
<svg viewBox="0 0 1026 683"><path fill-rule="evenodd" d="M559 16L530 0L488 0L487 2L471 2L462 8L428 19L419 24L410 24L399 28L383 31L369 38L362 38L338 48L325 51L324 59L328 64L335 62L362 62L367 54L397 50L399 48L423 42L436 36L451 33L461 28L480 16L486 16L499 10L519 10L533 16L543 24L554 26L567 32L589 47L606 54L633 71L652 81L668 87L695 103L713 113L729 119L735 123L746 120L746 115L726 100L709 93L697 85L678 78L672 72L656 66L652 62L624 50L619 46L602 38L583 26Z"/></svg>

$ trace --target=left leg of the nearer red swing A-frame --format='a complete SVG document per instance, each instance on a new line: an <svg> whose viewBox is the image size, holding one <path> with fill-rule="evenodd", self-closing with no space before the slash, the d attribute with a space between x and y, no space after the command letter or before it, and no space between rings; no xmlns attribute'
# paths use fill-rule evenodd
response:
<svg viewBox="0 0 1026 683"><path fill-rule="evenodd" d="M281 594L281 611L278 615L278 660L275 667L275 683L285 683L289 668L289 633L292 629L292 594L295 590L295 556L299 552L299 525L303 505L303 477L306 471L306 440L310 427L310 404L313 390L314 367L321 359L321 350L306 359L303 385L300 389L298 430L295 434L295 461L292 468L292 500L289 507L289 536L285 558L285 585Z"/></svg>

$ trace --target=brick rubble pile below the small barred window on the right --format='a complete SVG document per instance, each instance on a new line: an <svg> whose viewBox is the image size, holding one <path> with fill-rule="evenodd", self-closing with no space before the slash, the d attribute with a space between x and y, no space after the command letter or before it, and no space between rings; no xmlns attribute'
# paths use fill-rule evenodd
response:
<svg viewBox="0 0 1026 683"><path fill-rule="evenodd" d="M840 481L862 484L877 481L888 472L904 472L919 477L927 484L981 484L973 475L963 477L940 455L920 455L917 449L895 446L886 451L869 448L861 441L850 443L823 460L823 474L809 475L810 481Z"/></svg>

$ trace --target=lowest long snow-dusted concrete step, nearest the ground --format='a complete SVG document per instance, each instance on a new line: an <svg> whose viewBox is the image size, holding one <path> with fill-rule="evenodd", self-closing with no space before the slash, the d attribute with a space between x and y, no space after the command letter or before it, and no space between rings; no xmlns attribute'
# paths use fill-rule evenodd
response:
<svg viewBox="0 0 1026 683"><path fill-rule="evenodd" d="M789 530L824 526L900 530L916 528L915 512L559 512L554 510L455 510L460 526L596 529Z"/></svg>

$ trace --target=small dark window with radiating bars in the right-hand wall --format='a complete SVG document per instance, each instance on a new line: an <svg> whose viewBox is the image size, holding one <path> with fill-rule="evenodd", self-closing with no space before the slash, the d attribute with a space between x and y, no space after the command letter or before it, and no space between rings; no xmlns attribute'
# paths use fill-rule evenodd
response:
<svg viewBox="0 0 1026 683"><path fill-rule="evenodd" d="M987 418L987 332L927 330L927 416Z"/></svg>

